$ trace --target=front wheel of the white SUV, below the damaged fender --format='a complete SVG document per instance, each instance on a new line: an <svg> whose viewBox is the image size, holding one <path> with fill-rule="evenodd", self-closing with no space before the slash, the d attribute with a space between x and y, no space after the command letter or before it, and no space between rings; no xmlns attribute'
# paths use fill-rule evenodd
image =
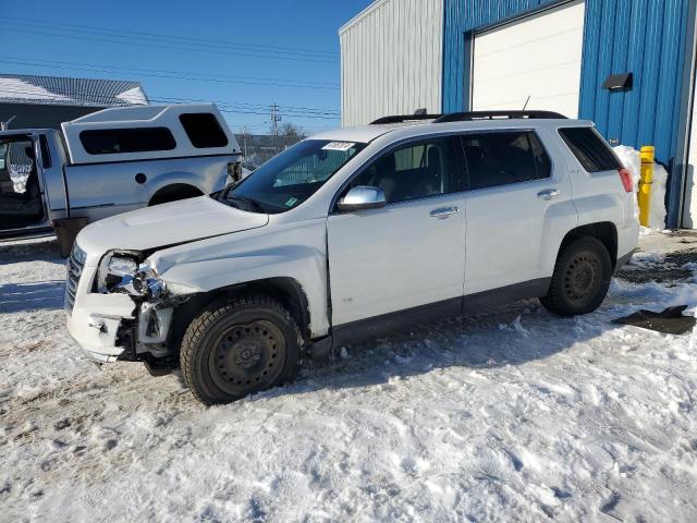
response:
<svg viewBox="0 0 697 523"><path fill-rule="evenodd" d="M295 320L266 295L211 305L188 326L180 363L194 397L212 405L291 381L303 339Z"/></svg>

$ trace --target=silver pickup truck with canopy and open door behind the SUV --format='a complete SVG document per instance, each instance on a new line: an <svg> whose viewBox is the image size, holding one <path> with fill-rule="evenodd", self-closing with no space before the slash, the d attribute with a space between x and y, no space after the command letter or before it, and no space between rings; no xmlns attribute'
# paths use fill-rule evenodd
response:
<svg viewBox="0 0 697 523"><path fill-rule="evenodd" d="M88 222L221 190L241 174L240 159L211 104L105 109L62 133L3 131L0 238L56 228L70 252Z"/></svg>

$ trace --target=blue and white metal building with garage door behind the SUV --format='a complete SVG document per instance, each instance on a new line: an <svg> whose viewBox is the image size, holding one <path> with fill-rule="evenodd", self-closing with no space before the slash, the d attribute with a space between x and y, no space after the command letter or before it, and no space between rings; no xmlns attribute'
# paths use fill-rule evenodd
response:
<svg viewBox="0 0 697 523"><path fill-rule="evenodd" d="M539 31L553 34L560 20L546 13L563 10L577 13L578 59L573 74L565 70L549 73L548 94L558 88L554 84L561 76L575 85L570 98L574 114L596 122L599 131L612 143L639 148L643 145L656 147L657 159L668 167L668 224L678 227L686 221L684 215L697 217L697 183L693 181L692 165L697 162L697 127L693 126L695 90L695 12L697 0L420 0L419 5L412 0L377 0L366 11L348 22L342 29L342 115L345 124L364 123L372 114L363 114L370 107L376 115L393 112L395 108L408 110L427 107L429 110L454 112L479 109L481 102L473 97L477 82L473 77L486 77L490 69L499 69L499 77L505 77L506 66L515 57L515 42L521 27L527 21L537 20L537 25L527 24L528 33ZM567 9L568 8L568 9ZM424 26L428 12L440 16L441 22ZM418 22L416 22L418 17ZM547 22L545 22L547 21ZM546 25L545 25L546 24ZM516 26L518 26L516 28ZM506 27L509 39L509 62L501 53L506 49L493 49L485 58L482 35L502 33ZM517 31L517 33L516 33ZM560 29L561 31L561 29ZM381 35L395 33L399 39L389 44ZM376 38L374 38L375 35ZM412 35L413 36L409 36ZM426 36L424 36L426 35ZM438 85L432 85L432 74L425 65L415 61L401 60L402 54L416 56L415 50L425 47L425 40L442 41L442 52L429 54L428 61L439 60L442 71ZM535 38L535 35L528 39ZM489 38L492 40L492 38ZM563 39L550 39L563 45ZM477 42L477 46L475 46ZM380 47L381 46L381 47ZM386 49L388 48L389 49ZM404 49L408 49L405 52ZM543 47L535 49L535 56L527 57L535 69L545 62ZM377 57L377 58L376 58ZM394 66L395 58L398 66ZM477 59L477 61L475 61ZM376 63L377 60L377 63ZM356 64L352 69L352 64ZM515 64L515 63L514 63ZM540 69L543 69L540 65ZM371 73L376 81L371 82ZM557 76L554 76L554 74ZM616 75L616 76L615 76ZM614 76L614 77L613 77ZM426 80L421 80L426 78ZM490 81L491 82L491 81ZM500 81L499 81L500 82ZM513 82L513 81L512 81ZM366 87L367 86L367 87ZM382 86L384 93L376 96ZM505 94L505 85L496 82L486 89L499 87ZM360 88L363 90L360 90ZM561 87L559 88L560 90ZM402 93L395 101L394 93ZM425 95L428 95L426 96ZM440 102L432 102L432 99ZM548 99L552 98L548 96ZM376 100L384 99L383 104ZM473 100L475 102L473 104ZM500 102L505 100L501 95ZM548 109L545 97L533 97L530 108ZM542 100L542 101L539 101ZM400 102L402 101L402 104ZM480 100L479 100L480 101ZM389 107L387 104L389 102ZM522 102L516 99L515 104ZM370 106L372 104L372 106ZM386 107L382 107L382 106ZM485 107L503 107L487 106ZM566 106L568 107L568 105ZM511 107L521 108L521 107ZM577 110L576 110L577 109ZM382 111L381 111L382 110ZM571 111L567 111L571 112ZM363 118L352 118L363 114ZM690 139L692 138L692 139ZM690 148L690 142L694 147ZM692 150L690 150L692 149ZM692 186L695 185L695 191ZM687 194L687 196L685 196ZM692 194L692 202L690 202ZM693 209L684 209L692 204Z"/></svg>

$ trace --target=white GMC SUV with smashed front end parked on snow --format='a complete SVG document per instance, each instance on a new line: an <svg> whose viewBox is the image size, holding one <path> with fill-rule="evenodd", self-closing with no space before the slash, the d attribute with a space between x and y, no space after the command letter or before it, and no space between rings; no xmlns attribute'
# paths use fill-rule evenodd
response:
<svg viewBox="0 0 697 523"><path fill-rule="evenodd" d="M637 238L632 178L591 122L388 117L87 227L68 325L93 358L179 363L222 403L407 324L529 297L590 313Z"/></svg>

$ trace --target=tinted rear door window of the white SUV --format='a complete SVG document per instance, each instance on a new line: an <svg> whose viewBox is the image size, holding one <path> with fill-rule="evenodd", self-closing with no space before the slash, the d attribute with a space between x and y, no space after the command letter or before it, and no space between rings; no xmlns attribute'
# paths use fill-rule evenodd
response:
<svg viewBox="0 0 697 523"><path fill-rule="evenodd" d="M470 190L542 180L551 174L549 156L533 132L467 134L462 142Z"/></svg>

